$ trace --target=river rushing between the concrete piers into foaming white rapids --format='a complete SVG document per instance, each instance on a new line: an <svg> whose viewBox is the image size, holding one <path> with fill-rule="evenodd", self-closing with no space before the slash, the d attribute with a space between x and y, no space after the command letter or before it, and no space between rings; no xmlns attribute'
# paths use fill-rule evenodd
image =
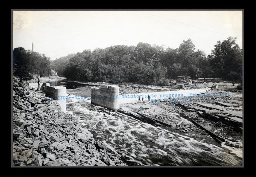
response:
<svg viewBox="0 0 256 177"><path fill-rule="evenodd" d="M66 86L68 94L90 96L90 87L82 83L61 80L54 84ZM88 99L68 99L67 112L79 116L95 139L105 140L116 148L128 165L242 165L240 148L174 133L91 105Z"/></svg>

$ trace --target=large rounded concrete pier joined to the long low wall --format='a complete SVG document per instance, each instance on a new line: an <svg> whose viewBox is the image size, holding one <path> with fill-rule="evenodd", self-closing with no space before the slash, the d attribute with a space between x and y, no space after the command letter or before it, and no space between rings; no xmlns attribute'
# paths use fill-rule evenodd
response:
<svg viewBox="0 0 256 177"><path fill-rule="evenodd" d="M119 109L119 86L101 85L91 88L91 103L112 110Z"/></svg>

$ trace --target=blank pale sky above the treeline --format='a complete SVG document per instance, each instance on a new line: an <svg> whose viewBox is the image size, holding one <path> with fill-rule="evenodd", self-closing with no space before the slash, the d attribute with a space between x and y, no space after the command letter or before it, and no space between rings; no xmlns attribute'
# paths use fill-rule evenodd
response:
<svg viewBox="0 0 256 177"><path fill-rule="evenodd" d="M14 11L13 22L13 47L34 42L51 60L139 42L178 48L188 38L206 54L228 36L242 48L242 11Z"/></svg>

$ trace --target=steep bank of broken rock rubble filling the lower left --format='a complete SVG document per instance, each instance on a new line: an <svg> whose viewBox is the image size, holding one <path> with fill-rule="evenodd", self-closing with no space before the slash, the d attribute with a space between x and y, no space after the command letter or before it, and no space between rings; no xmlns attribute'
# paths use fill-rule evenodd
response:
<svg viewBox="0 0 256 177"><path fill-rule="evenodd" d="M105 141L96 141L59 104L14 77L13 165L126 165Z"/></svg>

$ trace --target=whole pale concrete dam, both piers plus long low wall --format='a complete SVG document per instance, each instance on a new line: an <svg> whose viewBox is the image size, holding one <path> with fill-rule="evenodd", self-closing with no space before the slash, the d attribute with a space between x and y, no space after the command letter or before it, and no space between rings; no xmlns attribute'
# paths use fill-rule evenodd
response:
<svg viewBox="0 0 256 177"><path fill-rule="evenodd" d="M29 83L30 87L37 87L37 83ZM66 87L63 86L49 86L49 83L40 83L40 90L44 91L47 97L57 100L60 104L61 111L66 113L66 99L63 99L67 95ZM119 94L119 86L102 84L100 87L91 88L91 103L102 106L111 110L118 110L120 104L123 103L135 103L140 100L142 96L144 101L148 101L148 95L150 95L150 101L156 99L168 99L178 97L189 97L200 94L205 94L209 88L192 89L192 90L176 90L176 91L161 91L161 92L149 92L140 94Z"/></svg>

